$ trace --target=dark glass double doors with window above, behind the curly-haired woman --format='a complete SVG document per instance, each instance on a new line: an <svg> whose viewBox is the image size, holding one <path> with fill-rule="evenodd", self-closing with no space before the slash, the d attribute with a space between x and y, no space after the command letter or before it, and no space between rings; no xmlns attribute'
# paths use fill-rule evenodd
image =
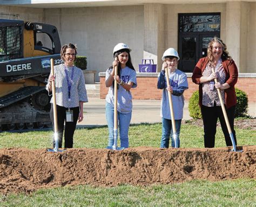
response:
<svg viewBox="0 0 256 207"><path fill-rule="evenodd" d="M192 73L214 36L220 37L220 13L179 14L178 68Z"/></svg>

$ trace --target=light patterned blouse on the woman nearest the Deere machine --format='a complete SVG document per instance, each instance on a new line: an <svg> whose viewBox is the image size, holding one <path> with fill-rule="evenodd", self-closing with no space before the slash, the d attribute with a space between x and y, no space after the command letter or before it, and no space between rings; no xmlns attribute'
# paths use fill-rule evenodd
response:
<svg viewBox="0 0 256 207"><path fill-rule="evenodd" d="M65 68L67 70L69 81L71 80L72 68L73 80L71 81L71 97L69 101L68 82L66 80ZM55 87L56 87L56 104L65 108L74 108L79 106L79 101L88 102L87 92L85 88L84 74L82 70L76 66L67 67L64 64L54 66L55 70ZM46 85L48 89L48 84ZM53 100L51 98L51 103Z"/></svg>

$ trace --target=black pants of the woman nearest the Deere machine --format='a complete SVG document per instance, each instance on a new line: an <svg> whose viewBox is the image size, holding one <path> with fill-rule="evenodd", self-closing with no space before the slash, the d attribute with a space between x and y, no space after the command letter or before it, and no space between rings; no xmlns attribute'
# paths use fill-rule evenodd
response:
<svg viewBox="0 0 256 207"><path fill-rule="evenodd" d="M59 148L62 148L62 137L63 137L63 130L64 130L64 122L65 122L65 148L72 148L73 147L73 135L77 125L77 119L79 115L79 107L70 108L73 110L73 122L66 122L66 110L63 106L57 105L57 120L58 120L58 143ZM54 131L54 119L53 119L53 104L51 104L51 111L50 111L52 129ZM53 148L55 148L55 140L53 139Z"/></svg>

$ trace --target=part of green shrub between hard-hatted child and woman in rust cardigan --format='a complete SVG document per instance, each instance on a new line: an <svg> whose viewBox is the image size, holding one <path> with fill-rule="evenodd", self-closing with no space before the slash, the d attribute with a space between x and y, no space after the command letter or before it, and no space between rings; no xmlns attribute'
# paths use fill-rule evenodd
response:
<svg viewBox="0 0 256 207"><path fill-rule="evenodd" d="M199 106L199 91L194 91L190 101L188 103L188 111L190 112L190 116L194 119L201 119L201 109Z"/></svg>

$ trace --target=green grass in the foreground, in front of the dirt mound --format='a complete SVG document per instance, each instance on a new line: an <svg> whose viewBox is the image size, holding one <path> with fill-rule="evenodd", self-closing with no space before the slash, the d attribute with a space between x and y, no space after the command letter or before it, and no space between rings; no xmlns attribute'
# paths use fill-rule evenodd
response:
<svg viewBox="0 0 256 207"><path fill-rule="evenodd" d="M189 181L170 185L102 188L89 185L0 196L1 206L255 206L256 182Z"/></svg>

